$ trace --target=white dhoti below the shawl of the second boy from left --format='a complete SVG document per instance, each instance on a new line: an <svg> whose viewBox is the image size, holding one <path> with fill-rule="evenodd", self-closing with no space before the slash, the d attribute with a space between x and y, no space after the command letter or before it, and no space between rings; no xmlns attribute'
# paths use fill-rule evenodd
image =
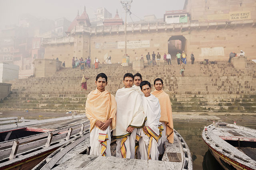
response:
<svg viewBox="0 0 256 170"><path fill-rule="evenodd" d="M124 142L125 148L126 148L126 158L135 158L135 140L136 140L136 133L137 128L134 128L132 131L132 134L130 136L127 136L126 141ZM123 139L123 138L122 138ZM122 139L116 139L116 157L123 158L121 154L121 143Z"/></svg>

